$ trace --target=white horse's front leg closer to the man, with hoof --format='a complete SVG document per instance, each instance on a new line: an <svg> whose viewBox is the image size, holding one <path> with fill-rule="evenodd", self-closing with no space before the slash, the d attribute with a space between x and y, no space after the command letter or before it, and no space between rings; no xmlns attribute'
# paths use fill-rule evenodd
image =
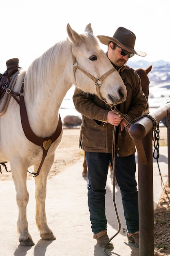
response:
<svg viewBox="0 0 170 256"><path fill-rule="evenodd" d="M45 200L46 200L46 180L49 174L50 168L54 161L54 154L46 159L40 170L40 174L35 177L35 199L36 199L36 211L35 219L38 230L40 231L40 236L44 240L55 240L55 236L51 229L49 229L46 221L45 212ZM35 172L38 166L34 166Z"/></svg>

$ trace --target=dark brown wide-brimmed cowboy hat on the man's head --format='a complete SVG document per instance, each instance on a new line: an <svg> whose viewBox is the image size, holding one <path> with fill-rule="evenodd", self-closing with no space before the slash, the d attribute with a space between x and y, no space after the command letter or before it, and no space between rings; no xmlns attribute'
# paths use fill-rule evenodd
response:
<svg viewBox="0 0 170 256"><path fill-rule="evenodd" d="M112 41L128 52L132 52L139 56L146 56L146 52L135 51L134 46L136 36L132 31L125 29L124 27L118 27L113 37L97 36L97 38L99 38L100 42L104 45L108 45L108 42Z"/></svg>

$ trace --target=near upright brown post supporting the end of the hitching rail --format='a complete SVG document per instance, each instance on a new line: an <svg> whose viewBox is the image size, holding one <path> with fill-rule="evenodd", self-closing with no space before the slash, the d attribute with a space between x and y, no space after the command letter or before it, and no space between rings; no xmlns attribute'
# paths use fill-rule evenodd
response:
<svg viewBox="0 0 170 256"><path fill-rule="evenodd" d="M139 256L154 256L152 131L142 139L147 164L138 157Z"/></svg>

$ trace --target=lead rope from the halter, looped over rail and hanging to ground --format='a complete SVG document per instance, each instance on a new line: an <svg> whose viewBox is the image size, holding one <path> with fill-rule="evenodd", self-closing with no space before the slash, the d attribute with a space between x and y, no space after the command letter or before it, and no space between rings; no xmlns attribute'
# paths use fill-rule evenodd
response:
<svg viewBox="0 0 170 256"><path fill-rule="evenodd" d="M148 114L144 114L140 117L137 117L136 119L132 120L128 115L126 114L122 114L121 112L119 112L119 110L117 110L117 108L115 106L110 106L112 111L115 111L117 115L119 115L119 117L123 117L126 121L128 121L128 124L125 126L125 130L127 130L129 125L132 125L135 123L135 121L138 121L139 119L141 119L142 117L148 117L152 120L153 123L153 128L152 128L152 132L154 132L153 138L155 136L155 129L157 128L157 120L148 115ZM106 244L104 245L104 253L107 256L110 256L107 252L106 252L106 246L108 245L108 243L110 243L110 241L115 238L115 236L117 236L121 230L121 222L120 222L120 218L119 218L119 213L117 211L117 206L116 206L116 201L115 201L115 179L116 179L116 170L115 170L115 133L116 133L116 126L114 126L113 128L113 153L112 153L112 158L113 158L113 166L112 166L112 171L113 171L113 204L115 207L115 213L116 213L116 217L117 217L117 221L118 221L118 230L117 232L106 242ZM126 229L125 229L126 230ZM125 231L124 230L124 231Z"/></svg>

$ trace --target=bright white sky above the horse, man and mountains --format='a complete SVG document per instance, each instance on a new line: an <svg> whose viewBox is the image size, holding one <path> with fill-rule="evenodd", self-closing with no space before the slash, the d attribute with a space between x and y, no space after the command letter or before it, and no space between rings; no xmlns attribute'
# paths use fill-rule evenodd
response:
<svg viewBox="0 0 170 256"><path fill-rule="evenodd" d="M67 23L80 34L91 23L95 36L113 36L118 27L126 27L136 35L135 49L147 52L131 61L170 62L169 16L170 0L1 0L0 72L10 58L19 58L26 69L66 39Z"/></svg>

